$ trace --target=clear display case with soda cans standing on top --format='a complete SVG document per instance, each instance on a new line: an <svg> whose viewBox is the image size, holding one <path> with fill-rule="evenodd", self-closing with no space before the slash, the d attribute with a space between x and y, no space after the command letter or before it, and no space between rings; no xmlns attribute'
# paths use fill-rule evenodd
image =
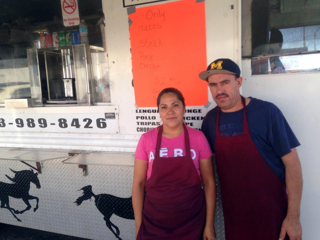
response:
<svg viewBox="0 0 320 240"><path fill-rule="evenodd" d="M111 104L108 57L84 44L28 49L33 107Z"/></svg>

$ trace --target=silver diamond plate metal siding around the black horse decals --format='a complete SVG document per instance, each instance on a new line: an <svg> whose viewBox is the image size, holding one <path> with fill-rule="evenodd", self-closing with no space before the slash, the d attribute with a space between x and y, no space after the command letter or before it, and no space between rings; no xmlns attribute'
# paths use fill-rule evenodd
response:
<svg viewBox="0 0 320 240"><path fill-rule="evenodd" d="M42 174L38 175L41 188L37 189L33 183L30 184L29 194L39 198L39 208L36 212L33 212L36 200L29 200L32 208L23 214L17 214L22 222L18 222L7 209L0 209L0 222L93 240L116 240L116 237L107 228L103 220L104 216L98 211L93 201L86 200L79 206L76 206L74 202L83 194L83 191L78 190L87 185L92 186L92 192L95 195L104 193L118 197L130 197L133 168L89 165L87 176L83 177L82 169L79 169L77 165L62 164L63 160L55 159L41 163ZM1 182L12 183L5 177L5 174L10 177L14 176L9 168L15 171L30 169L19 161L0 160ZM219 182L218 179L217 182ZM217 240L224 240L219 193L220 191L218 191L215 229ZM9 197L9 201L10 207L16 210L21 211L26 208L22 199ZM119 236L123 240L134 240L134 220L112 215L110 221L119 228Z"/></svg>

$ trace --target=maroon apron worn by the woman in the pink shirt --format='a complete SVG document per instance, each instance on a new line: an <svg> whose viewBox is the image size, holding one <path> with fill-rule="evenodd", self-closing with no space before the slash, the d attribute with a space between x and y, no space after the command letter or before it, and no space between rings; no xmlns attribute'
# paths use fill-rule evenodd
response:
<svg viewBox="0 0 320 240"><path fill-rule="evenodd" d="M205 197L191 158L188 130L183 127L186 156L182 157L159 156L163 131L162 125L159 127L137 240L202 239Z"/></svg>

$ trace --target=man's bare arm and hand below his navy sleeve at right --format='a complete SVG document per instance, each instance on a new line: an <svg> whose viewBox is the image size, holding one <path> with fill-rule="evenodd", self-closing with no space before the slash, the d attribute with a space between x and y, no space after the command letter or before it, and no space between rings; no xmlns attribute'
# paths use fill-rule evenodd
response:
<svg viewBox="0 0 320 240"><path fill-rule="evenodd" d="M287 233L290 240L302 239L300 224L300 202L302 195L302 171L296 148L281 159L285 166L285 182L288 191L288 212L282 223L279 240L284 240Z"/></svg>

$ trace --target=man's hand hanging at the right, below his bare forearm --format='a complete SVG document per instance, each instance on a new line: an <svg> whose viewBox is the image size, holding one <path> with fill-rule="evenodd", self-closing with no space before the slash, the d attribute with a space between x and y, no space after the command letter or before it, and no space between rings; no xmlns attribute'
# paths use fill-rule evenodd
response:
<svg viewBox="0 0 320 240"><path fill-rule="evenodd" d="M287 216L281 227L279 240L284 240L285 234L288 234L290 240L302 240L302 228L299 217Z"/></svg>

